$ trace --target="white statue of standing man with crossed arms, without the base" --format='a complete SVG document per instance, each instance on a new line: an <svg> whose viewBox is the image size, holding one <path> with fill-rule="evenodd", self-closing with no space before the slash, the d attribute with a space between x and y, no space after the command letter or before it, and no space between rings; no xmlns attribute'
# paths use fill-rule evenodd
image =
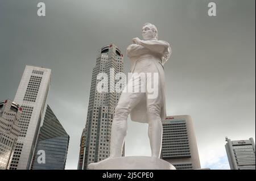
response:
<svg viewBox="0 0 256 181"><path fill-rule="evenodd" d="M122 155L129 114L133 121L148 123L151 156L160 157L162 120L166 118L163 65L171 55L171 47L166 41L158 40L158 30L154 24L144 24L142 36L144 40L140 40L138 37L133 39L133 44L127 47L127 56L131 60L131 73L144 73L146 78L140 78L138 74L133 75L119 98L112 123L109 158L121 157ZM158 76L153 76L154 73ZM152 98L148 89L145 92L127 91L138 86L134 85L136 79L137 84L141 87L156 85L154 90L158 91L158 94Z"/></svg>

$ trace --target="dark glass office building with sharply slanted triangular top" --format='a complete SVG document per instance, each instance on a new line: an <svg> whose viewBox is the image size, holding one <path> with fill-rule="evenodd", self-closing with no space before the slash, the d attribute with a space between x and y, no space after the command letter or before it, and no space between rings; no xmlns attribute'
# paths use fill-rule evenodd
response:
<svg viewBox="0 0 256 181"><path fill-rule="evenodd" d="M68 144L68 133L60 124L49 105L47 105L46 115L44 116L43 126L39 131L31 169L64 170L68 154ZM44 153L42 153L42 150ZM42 158L42 156L45 157ZM41 159L43 159L43 163Z"/></svg>

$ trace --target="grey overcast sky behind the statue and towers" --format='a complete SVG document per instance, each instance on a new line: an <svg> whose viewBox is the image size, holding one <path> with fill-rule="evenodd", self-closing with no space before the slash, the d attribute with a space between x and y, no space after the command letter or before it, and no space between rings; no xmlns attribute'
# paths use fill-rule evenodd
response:
<svg viewBox="0 0 256 181"><path fill-rule="evenodd" d="M167 115L191 115L202 167L229 169L225 136L255 140L254 0L0 0L0 100L13 100L26 65L52 70L47 103L71 137L66 169L77 169L97 51L125 54L146 22L172 57L164 65ZM216 2L217 16L208 16ZM129 121L126 155L150 155L147 125Z"/></svg>

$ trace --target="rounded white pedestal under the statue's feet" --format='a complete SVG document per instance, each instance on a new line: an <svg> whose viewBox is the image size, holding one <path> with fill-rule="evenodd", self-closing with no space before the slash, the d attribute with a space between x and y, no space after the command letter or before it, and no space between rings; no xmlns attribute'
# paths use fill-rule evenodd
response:
<svg viewBox="0 0 256 181"><path fill-rule="evenodd" d="M90 163L88 170L176 170L171 163L159 158L134 156L107 158Z"/></svg>

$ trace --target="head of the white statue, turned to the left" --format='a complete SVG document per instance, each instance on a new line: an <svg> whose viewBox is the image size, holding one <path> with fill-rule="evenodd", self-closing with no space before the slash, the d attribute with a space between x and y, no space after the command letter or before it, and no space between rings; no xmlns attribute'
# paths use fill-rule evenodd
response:
<svg viewBox="0 0 256 181"><path fill-rule="evenodd" d="M157 40L158 29L154 24L145 23L142 27L142 37L144 40Z"/></svg>

